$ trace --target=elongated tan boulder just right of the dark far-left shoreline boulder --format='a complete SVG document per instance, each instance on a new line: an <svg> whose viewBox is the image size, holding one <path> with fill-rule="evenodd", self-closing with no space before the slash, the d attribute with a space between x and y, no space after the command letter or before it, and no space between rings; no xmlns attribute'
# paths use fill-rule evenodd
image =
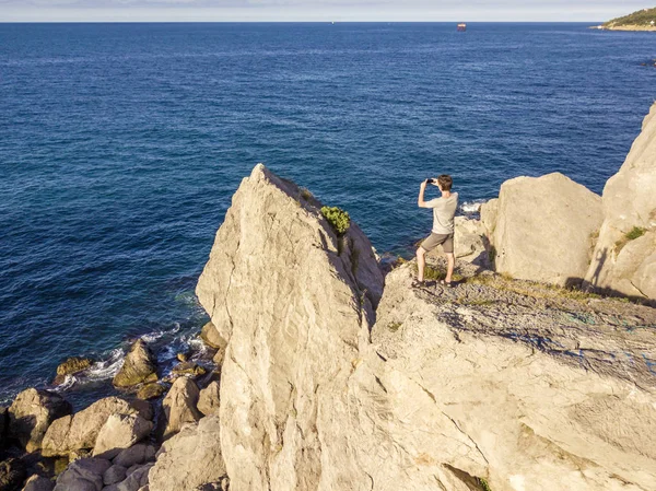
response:
<svg viewBox="0 0 656 491"><path fill-rule="evenodd" d="M93 448L101 428L112 414L133 412L130 404L119 397L97 400L74 416L54 421L44 437L43 455L68 456L73 451Z"/></svg>

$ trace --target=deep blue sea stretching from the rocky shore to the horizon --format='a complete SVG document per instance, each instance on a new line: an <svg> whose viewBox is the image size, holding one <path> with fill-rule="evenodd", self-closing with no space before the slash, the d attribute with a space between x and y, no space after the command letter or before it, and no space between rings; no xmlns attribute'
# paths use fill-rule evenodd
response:
<svg viewBox="0 0 656 491"><path fill-rule="evenodd" d="M165 370L198 348L194 288L257 162L378 252L430 229L441 173L464 213L518 175L601 192L653 58L653 33L584 24L0 24L0 402L69 355L97 360L57 388L80 408L130 340Z"/></svg>

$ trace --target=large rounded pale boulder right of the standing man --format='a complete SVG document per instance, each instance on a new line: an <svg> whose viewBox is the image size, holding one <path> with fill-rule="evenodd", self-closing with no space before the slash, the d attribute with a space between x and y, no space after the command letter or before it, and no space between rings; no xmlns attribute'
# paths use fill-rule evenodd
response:
<svg viewBox="0 0 656 491"><path fill-rule="evenodd" d="M581 284L602 221L601 198L559 173L516 177L501 186L494 265L514 278ZM483 217L488 217L483 212Z"/></svg>

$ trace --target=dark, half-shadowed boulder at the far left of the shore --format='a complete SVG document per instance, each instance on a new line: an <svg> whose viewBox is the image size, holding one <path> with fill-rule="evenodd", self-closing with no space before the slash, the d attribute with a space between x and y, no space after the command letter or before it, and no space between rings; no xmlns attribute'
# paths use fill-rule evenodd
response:
<svg viewBox="0 0 656 491"><path fill-rule="evenodd" d="M71 411L71 405L58 394L35 388L23 390L9 408L9 436L27 452L34 452L42 447L50 423Z"/></svg>

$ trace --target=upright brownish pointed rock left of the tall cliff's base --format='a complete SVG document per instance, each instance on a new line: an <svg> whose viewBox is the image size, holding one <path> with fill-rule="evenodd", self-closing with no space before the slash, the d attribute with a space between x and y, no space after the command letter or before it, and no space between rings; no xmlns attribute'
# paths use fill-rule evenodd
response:
<svg viewBox="0 0 656 491"><path fill-rule="evenodd" d="M164 440L177 433L183 424L196 422L202 414L197 408L198 386L187 377L177 378L162 404L160 432Z"/></svg>

